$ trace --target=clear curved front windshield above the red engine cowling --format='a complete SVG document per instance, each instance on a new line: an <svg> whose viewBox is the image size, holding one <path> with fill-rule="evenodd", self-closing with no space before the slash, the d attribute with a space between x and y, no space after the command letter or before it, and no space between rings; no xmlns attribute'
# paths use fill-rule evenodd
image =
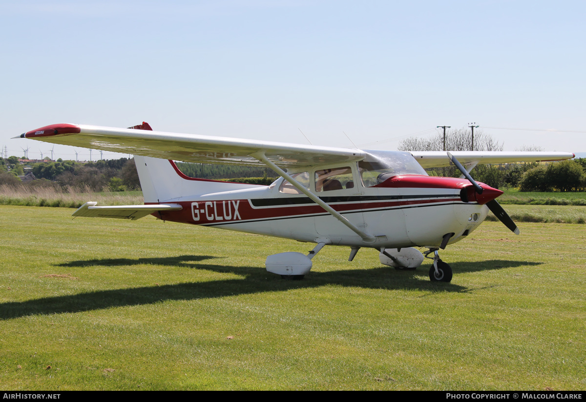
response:
<svg viewBox="0 0 586 402"><path fill-rule="evenodd" d="M424 175L425 170L409 152L367 151L368 155L358 162L364 187L376 186L397 175Z"/></svg>

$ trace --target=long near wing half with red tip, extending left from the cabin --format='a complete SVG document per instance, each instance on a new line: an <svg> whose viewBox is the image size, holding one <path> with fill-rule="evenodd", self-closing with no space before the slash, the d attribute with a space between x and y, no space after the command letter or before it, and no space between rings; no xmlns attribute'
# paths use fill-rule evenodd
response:
<svg viewBox="0 0 586 402"><path fill-rule="evenodd" d="M25 132L20 137L159 159L249 166L264 165L250 156L259 151L264 151L267 159L283 167L360 161L366 156L357 149L82 124L48 125Z"/></svg>

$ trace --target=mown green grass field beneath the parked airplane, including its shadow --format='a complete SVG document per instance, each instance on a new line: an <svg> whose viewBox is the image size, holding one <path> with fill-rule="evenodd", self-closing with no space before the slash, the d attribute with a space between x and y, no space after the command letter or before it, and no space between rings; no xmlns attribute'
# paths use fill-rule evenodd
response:
<svg viewBox="0 0 586 402"><path fill-rule="evenodd" d="M338 247L283 281L311 245L70 214L0 206L3 389L586 388L583 224L486 222L450 284Z"/></svg>

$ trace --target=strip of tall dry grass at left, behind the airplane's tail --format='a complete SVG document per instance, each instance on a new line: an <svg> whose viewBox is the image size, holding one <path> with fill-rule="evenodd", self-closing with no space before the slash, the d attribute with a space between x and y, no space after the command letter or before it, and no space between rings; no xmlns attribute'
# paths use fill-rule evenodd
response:
<svg viewBox="0 0 586 402"><path fill-rule="evenodd" d="M88 201L98 205L139 205L144 202L142 192L95 193L68 187L63 191L52 187L29 188L25 185L0 185L0 205L79 208Z"/></svg>

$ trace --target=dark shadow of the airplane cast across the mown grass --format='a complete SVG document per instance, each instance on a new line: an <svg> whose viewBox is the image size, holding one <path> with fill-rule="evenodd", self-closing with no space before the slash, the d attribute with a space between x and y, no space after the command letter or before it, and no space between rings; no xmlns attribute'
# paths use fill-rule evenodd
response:
<svg viewBox="0 0 586 402"><path fill-rule="evenodd" d="M414 275L424 272L427 277L428 267L423 265L418 271L395 271L389 267L370 270L336 270L331 272L312 271L302 281L281 280L259 267L232 267L229 265L195 264L196 261L209 260L208 255L181 255L179 257L114 258L103 260L71 261L59 264L60 267L116 266L136 264L176 265L189 269L209 270L221 273L244 275L245 278L220 281L191 282L172 285L156 285L110 289L33 299L24 302L6 302L0 304L0 319L11 319L37 314L62 314L91 311L113 307L154 304L169 300L195 300L205 298L227 297L241 294L287 291L290 289L316 288L324 285L342 285L343 287L363 287L370 289L420 289L431 292L469 292L471 289L444 282L418 280ZM475 272L522 265L539 265L527 261L489 260L475 263L454 263L457 272Z"/></svg>

